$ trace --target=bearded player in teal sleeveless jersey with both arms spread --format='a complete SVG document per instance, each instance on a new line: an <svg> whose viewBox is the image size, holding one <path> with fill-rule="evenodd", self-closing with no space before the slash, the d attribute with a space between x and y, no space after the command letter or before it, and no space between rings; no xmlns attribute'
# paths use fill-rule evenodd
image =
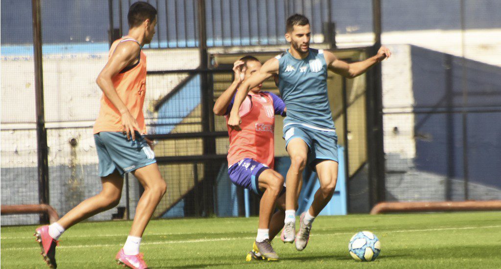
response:
<svg viewBox="0 0 501 269"><path fill-rule="evenodd" d="M286 178L286 218L281 237L284 242L295 241L296 249L301 251L310 238L313 220L331 200L338 176L337 135L327 96L327 69L346 78L355 78L390 57L391 53L381 47L375 56L348 64L328 51L311 49L310 23L305 16L298 14L287 19L285 38L291 43L289 50L268 60L238 89L228 125L240 130L238 110L249 89L278 76L280 94L287 107L284 139L291 157ZM301 214L296 234L295 208L307 164L316 170L320 189L315 193L311 207Z"/></svg>

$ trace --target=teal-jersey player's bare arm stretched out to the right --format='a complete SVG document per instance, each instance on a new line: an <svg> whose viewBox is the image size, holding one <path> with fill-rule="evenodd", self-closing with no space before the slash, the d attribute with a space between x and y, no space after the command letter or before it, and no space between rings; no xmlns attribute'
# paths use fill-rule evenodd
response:
<svg viewBox="0 0 501 269"><path fill-rule="evenodd" d="M365 73L371 66L383 61L391 56L391 52L386 47L381 47L377 54L365 61L348 64L339 60L331 52L324 52L327 68L343 77L352 79Z"/></svg>

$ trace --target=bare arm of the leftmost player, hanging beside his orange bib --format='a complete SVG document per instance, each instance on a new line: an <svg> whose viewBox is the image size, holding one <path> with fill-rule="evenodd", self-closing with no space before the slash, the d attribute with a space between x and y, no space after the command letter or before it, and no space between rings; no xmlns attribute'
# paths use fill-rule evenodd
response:
<svg viewBox="0 0 501 269"><path fill-rule="evenodd" d="M96 83L103 91L104 95L111 101L115 108L122 115L122 125L124 131L127 133L127 139L132 136L132 140L136 139L134 128L139 130L136 119L132 117L125 104L120 100L115 87L113 86L112 78L122 71L127 66L134 64L137 61L140 47L135 42L120 43L113 54L111 55L108 63L104 66L103 70L97 76Z"/></svg>

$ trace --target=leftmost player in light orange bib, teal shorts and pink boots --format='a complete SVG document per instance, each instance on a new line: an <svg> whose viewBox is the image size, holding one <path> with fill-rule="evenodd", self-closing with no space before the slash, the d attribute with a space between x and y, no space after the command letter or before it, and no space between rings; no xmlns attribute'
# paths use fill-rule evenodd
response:
<svg viewBox="0 0 501 269"><path fill-rule="evenodd" d="M157 11L136 2L127 15L129 33L115 41L108 63L96 83L103 91L101 109L94 125L102 190L86 199L51 225L38 227L35 236L45 261L56 267L59 236L76 223L118 205L123 175L131 172L144 187L129 236L116 260L130 268L146 268L139 243L153 211L166 191L146 133L143 103L146 90L146 56L141 51L155 34Z"/></svg>

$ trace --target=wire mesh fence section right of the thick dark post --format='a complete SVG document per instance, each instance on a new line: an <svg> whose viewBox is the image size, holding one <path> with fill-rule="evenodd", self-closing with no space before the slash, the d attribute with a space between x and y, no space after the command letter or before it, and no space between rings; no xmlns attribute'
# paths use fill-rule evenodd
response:
<svg viewBox="0 0 501 269"><path fill-rule="evenodd" d="M501 3L423 2L383 1L386 200L500 199Z"/></svg>

